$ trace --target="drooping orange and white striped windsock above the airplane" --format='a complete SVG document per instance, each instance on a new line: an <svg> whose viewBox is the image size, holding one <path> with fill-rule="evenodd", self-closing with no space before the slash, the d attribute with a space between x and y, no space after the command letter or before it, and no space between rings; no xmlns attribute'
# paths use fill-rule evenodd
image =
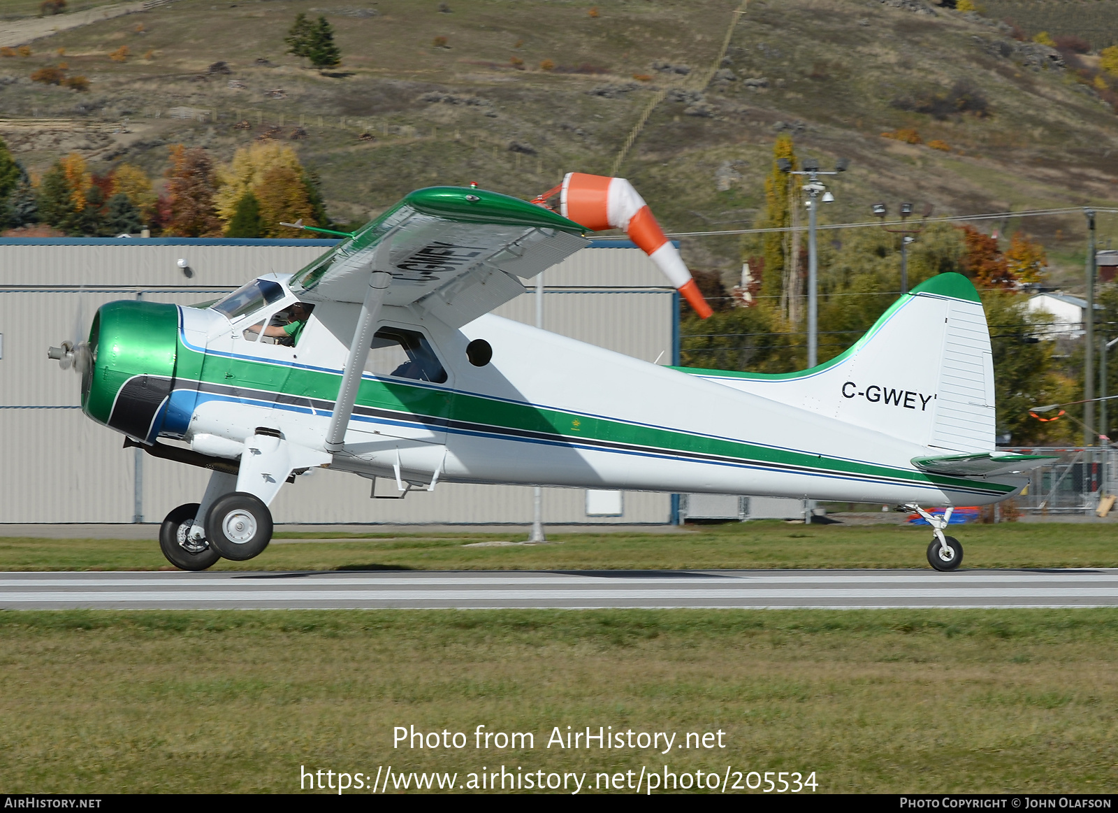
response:
<svg viewBox="0 0 1118 813"><path fill-rule="evenodd" d="M679 250L664 236L648 205L632 183L624 178L568 172L560 189L560 215L591 231L622 229L664 272L695 313L702 319L711 314L710 305L699 292Z"/></svg>

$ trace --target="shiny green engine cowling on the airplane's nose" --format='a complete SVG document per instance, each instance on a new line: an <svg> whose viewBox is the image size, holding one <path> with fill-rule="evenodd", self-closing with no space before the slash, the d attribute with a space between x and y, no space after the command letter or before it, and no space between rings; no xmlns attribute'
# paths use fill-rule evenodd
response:
<svg viewBox="0 0 1118 813"><path fill-rule="evenodd" d="M174 386L179 309L162 302L102 305L89 329L82 409L138 441L159 435Z"/></svg>

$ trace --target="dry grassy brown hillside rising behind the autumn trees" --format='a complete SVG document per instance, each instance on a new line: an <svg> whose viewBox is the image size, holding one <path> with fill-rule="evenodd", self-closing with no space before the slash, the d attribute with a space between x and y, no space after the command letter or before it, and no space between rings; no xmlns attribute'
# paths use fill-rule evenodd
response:
<svg viewBox="0 0 1118 813"><path fill-rule="evenodd" d="M227 160L262 133L294 134L331 215L348 221L419 186L477 181L528 197L563 171L608 172L666 92L619 174L670 231L751 226L781 131L800 157L851 160L822 215L832 223L865 220L879 199L893 211L912 200L961 215L1116 198L1118 116L1106 92L1008 26L920 0L752 0L720 62L731 0L352 2L174 0L37 39L30 56L0 59L0 115L68 121L9 122L0 135L34 171L77 150L94 169L127 160L158 176L168 144ZM1003 12L1008 0L996 4ZM333 25L339 68L322 74L285 54L297 12ZM110 60L122 46L127 60ZM1082 60L1090 68L1097 57ZM91 89L29 81L60 62ZM196 117L169 117L172 108ZM898 129L923 143L881 136ZM1073 283L1083 218L1022 227ZM1101 217L1100 230L1118 236L1115 218ZM731 276L740 244L686 238L684 250Z"/></svg>

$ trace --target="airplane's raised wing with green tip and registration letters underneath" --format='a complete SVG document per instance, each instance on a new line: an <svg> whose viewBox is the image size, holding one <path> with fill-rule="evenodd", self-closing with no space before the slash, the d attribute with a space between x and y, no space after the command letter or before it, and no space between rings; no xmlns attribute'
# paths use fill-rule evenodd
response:
<svg viewBox="0 0 1118 813"><path fill-rule="evenodd" d="M582 231L506 195L429 187L297 272L290 285L309 301L361 303L370 272L387 272L385 305L411 305L420 316L459 328L523 293L520 280L589 245Z"/></svg>

